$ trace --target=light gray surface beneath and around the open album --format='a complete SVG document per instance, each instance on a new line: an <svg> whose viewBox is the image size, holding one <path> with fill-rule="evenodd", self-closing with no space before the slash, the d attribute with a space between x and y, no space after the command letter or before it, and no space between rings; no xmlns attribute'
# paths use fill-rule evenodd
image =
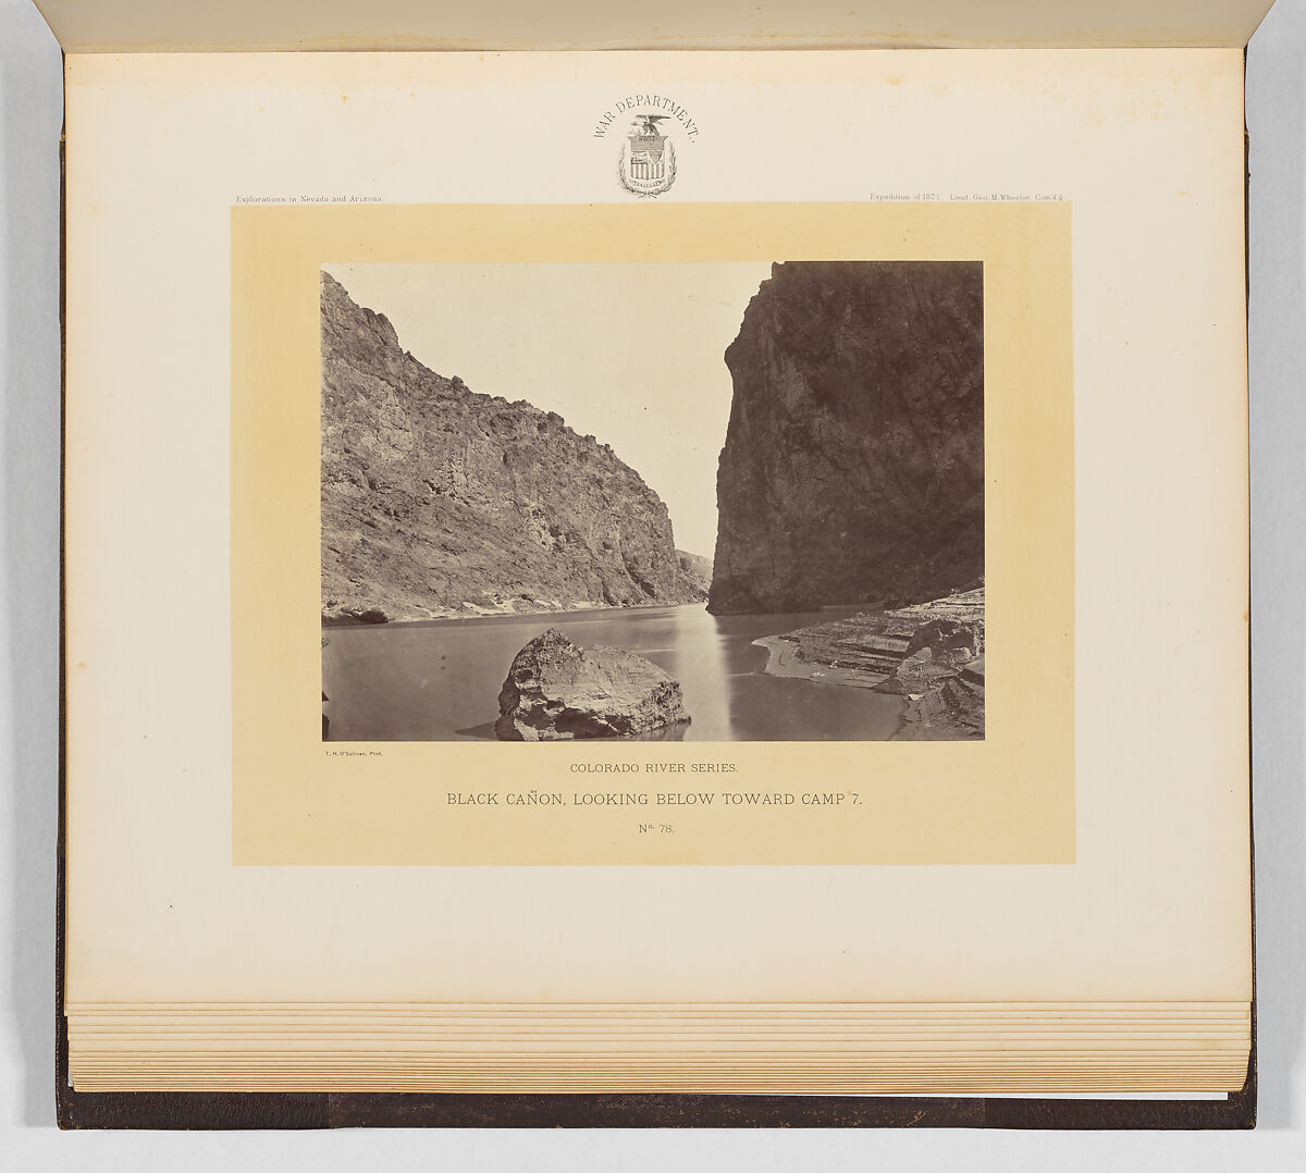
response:
<svg viewBox="0 0 1306 1173"><path fill-rule="evenodd" d="M1252 1134L60 1134L52 1059L60 81L59 47L30 0L0 0L0 1168L1306 1168L1306 0L1279 0L1251 43L1247 78L1260 1006Z"/></svg>

